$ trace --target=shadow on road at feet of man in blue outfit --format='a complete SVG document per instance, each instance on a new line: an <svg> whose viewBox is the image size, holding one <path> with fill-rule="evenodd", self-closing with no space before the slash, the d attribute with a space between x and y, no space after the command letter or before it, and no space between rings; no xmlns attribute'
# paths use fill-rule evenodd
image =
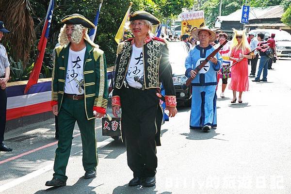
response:
<svg viewBox="0 0 291 194"><path fill-rule="evenodd" d="M189 133L180 133L180 135L186 136L186 139L189 140L207 140L212 139L220 133L215 132L215 128L211 128L208 132L205 132L201 129L190 129Z"/></svg>

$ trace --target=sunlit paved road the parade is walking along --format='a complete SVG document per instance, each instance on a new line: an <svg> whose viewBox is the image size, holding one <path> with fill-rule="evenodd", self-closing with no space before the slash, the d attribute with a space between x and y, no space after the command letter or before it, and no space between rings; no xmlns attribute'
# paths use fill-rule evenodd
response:
<svg viewBox="0 0 291 194"><path fill-rule="evenodd" d="M76 126L67 186L46 187L57 143L51 119L5 133L14 151L0 153L0 193L290 194L291 60L279 60L273 66L268 82L249 82L242 104L230 104L230 90L225 98L218 98L218 127L208 133L190 130L190 109L178 107L178 115L162 126L155 187L128 187L132 174L126 148L101 135L99 120L97 178L82 178L81 137Z"/></svg>

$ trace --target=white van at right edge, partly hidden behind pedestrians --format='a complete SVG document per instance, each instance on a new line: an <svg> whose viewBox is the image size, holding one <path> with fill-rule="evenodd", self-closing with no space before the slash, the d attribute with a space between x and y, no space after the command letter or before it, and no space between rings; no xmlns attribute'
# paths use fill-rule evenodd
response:
<svg viewBox="0 0 291 194"><path fill-rule="evenodd" d="M251 30L256 34L262 32L265 35L265 40L271 36L272 33L275 33L276 41L276 51L278 57L291 57L291 34L283 30L275 29L256 29Z"/></svg>

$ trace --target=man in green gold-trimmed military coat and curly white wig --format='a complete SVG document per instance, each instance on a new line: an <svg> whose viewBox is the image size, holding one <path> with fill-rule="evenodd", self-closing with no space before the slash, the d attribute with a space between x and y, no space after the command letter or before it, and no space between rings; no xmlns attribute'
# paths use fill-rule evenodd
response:
<svg viewBox="0 0 291 194"><path fill-rule="evenodd" d="M65 16L55 49L52 76L52 112L58 115L59 142L54 174L46 186L65 186L65 169L70 156L72 134L77 121L82 139L84 178L95 178L97 144L95 118L106 113L108 85L104 52L88 34L96 26L79 14Z"/></svg>

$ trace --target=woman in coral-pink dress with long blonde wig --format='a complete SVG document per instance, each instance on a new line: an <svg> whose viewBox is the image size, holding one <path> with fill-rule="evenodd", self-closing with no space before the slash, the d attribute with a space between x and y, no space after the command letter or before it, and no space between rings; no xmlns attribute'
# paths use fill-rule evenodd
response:
<svg viewBox="0 0 291 194"><path fill-rule="evenodd" d="M231 52L229 59L233 63L238 62L231 67L231 82L228 85L228 89L232 90L233 98L231 103L235 103L237 100L236 92L239 92L239 103L242 103L242 92L248 91L248 66L247 59L250 59L252 55L247 55L250 52L250 47L246 39L245 30L238 31L233 29L234 38L232 45L230 46Z"/></svg>

